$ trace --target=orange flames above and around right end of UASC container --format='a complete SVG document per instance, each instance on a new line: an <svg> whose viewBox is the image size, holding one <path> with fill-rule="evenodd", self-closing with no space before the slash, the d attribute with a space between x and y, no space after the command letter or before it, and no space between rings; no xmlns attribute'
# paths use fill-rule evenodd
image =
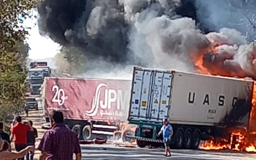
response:
<svg viewBox="0 0 256 160"><path fill-rule="evenodd" d="M211 51L213 54L217 52L216 46L212 46L208 51ZM197 54L197 57L193 56L191 54L191 58L194 61L194 65L197 68L197 71L201 74L211 74L215 75L215 71L209 70L206 66L203 64L203 57L204 53L207 51L202 51L200 54ZM200 56L198 56L200 55ZM216 68L217 69L217 68ZM215 70L216 70L215 69ZM224 73L224 72L223 72ZM230 76L232 75L226 75ZM234 151L245 151L245 152L256 152L256 82L254 82L253 85L253 93L252 93L252 102L251 102L251 112L250 112L250 120L249 120L249 127L246 131L231 131L230 133L230 139L228 138L215 138L211 139L209 141L205 141L200 145L200 149L203 150L234 150ZM236 138L236 139L233 139ZM232 143L232 141L235 140L235 143Z"/></svg>

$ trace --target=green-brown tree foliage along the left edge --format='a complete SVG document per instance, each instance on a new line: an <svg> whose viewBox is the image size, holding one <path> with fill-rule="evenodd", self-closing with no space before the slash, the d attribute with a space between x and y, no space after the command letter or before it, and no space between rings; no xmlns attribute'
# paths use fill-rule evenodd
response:
<svg viewBox="0 0 256 160"><path fill-rule="evenodd" d="M22 23L34 5L31 0L0 0L0 121L24 104L27 45L23 42L28 28Z"/></svg>

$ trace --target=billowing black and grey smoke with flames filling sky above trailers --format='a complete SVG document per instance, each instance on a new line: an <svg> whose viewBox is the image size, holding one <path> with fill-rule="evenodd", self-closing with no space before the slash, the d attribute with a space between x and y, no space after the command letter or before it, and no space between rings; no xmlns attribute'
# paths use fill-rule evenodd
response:
<svg viewBox="0 0 256 160"><path fill-rule="evenodd" d="M41 35L80 49L88 72L139 65L256 77L255 7L253 0L45 0L37 10Z"/></svg>

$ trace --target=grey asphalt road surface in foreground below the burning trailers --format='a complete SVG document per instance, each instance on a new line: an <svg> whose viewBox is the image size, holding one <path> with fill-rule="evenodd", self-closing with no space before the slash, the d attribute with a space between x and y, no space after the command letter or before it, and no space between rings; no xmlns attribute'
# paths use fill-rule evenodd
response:
<svg viewBox="0 0 256 160"><path fill-rule="evenodd" d="M114 145L81 145L82 159L90 160L255 160L256 154L244 154L227 151L172 150L172 157L165 157L164 149L125 148Z"/></svg>

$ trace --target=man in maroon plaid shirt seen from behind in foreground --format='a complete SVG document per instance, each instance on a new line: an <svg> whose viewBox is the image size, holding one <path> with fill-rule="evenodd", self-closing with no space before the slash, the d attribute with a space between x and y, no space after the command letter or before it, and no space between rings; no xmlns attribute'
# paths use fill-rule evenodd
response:
<svg viewBox="0 0 256 160"><path fill-rule="evenodd" d="M39 160L81 160L81 148L78 136L69 130L64 124L61 111L53 111L50 114L51 129L44 133L38 146L41 151Z"/></svg>

